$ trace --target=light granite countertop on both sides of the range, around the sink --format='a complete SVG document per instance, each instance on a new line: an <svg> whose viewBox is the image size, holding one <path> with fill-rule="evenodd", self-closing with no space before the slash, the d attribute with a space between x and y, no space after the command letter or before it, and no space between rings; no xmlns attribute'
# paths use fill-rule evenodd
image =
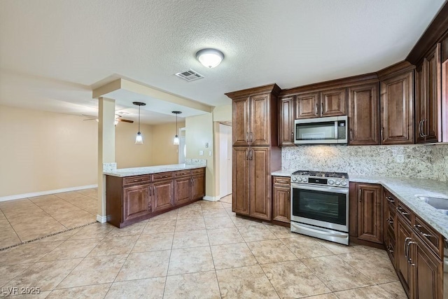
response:
<svg viewBox="0 0 448 299"><path fill-rule="evenodd" d="M279 170L273 176L290 176L293 171ZM349 181L356 183L377 183L389 190L414 213L444 237L448 237L448 216L419 200L416 195L448 198L448 182L430 179L414 179L386 176L362 176L349 174Z"/></svg>

